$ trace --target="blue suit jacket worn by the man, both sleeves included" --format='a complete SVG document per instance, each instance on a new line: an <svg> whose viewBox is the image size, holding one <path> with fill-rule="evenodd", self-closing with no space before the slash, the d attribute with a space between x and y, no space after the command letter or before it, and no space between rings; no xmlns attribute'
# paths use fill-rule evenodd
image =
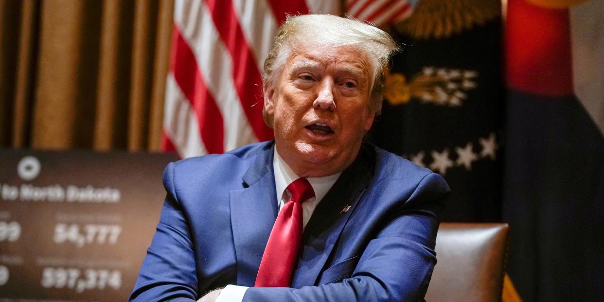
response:
<svg viewBox="0 0 604 302"><path fill-rule="evenodd" d="M257 143L166 167L167 196L130 301L254 286L278 211L273 150ZM364 144L306 225L292 288L249 288L243 301L422 300L448 192L440 175Z"/></svg>

